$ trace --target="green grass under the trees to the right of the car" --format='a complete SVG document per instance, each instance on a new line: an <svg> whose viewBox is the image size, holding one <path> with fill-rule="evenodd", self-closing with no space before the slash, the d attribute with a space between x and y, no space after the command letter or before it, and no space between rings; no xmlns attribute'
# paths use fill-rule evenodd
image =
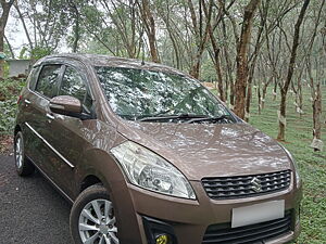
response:
<svg viewBox="0 0 326 244"><path fill-rule="evenodd" d="M323 87L326 94L326 87ZM279 95L273 101L272 90L268 91L265 108L261 115L258 113L258 101L255 94L251 105L250 124L272 138L277 137L277 110ZM302 232L297 243L323 244L326 243L326 100L323 100L323 125L322 140L324 152L314 152L310 147L312 142L312 103L310 91L304 89L304 114L296 112L293 104L294 95L290 95L287 102L287 128L286 142L283 144L292 153L300 168L303 180L303 200L301 207Z"/></svg>

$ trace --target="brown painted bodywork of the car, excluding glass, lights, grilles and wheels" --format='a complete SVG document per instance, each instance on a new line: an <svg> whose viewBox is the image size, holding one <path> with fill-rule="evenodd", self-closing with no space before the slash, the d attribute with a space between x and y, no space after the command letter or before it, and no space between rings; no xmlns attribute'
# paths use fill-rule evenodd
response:
<svg viewBox="0 0 326 244"><path fill-rule="evenodd" d="M298 216L302 187L296 183L290 158L273 139L246 123L186 125L124 120L110 108L93 66L183 73L159 64L141 65L139 61L104 55L60 54L47 56L35 66L43 63L71 65L85 74L96 116L82 120L55 114L50 111L49 99L25 88L15 131L21 129L26 138L26 155L71 202L90 177L103 183L115 207L122 244L147 244L141 216L172 222L178 244L201 244L210 224L230 222L231 209L241 206L285 200L285 208L293 209ZM190 181L197 200L163 195L130 184L110 152L127 140L154 151L177 167ZM266 195L216 201L208 196L201 184L203 177L284 169L292 170L290 187ZM289 242L299 232L300 224L293 221L291 232L266 244Z"/></svg>

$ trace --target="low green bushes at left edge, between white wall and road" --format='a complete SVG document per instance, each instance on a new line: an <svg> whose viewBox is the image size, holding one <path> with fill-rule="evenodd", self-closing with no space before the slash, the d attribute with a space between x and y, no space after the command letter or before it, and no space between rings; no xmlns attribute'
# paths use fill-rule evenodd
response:
<svg viewBox="0 0 326 244"><path fill-rule="evenodd" d="M17 108L17 97L25 80L5 79L0 81L0 133L11 133Z"/></svg>

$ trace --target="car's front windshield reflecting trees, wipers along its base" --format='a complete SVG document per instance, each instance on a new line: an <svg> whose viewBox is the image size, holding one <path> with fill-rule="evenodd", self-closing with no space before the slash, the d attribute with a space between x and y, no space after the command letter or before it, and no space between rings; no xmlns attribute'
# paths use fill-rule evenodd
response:
<svg viewBox="0 0 326 244"><path fill-rule="evenodd" d="M96 72L113 112L125 119L161 123L228 117L228 123L235 121L211 92L187 76L108 66L98 66Z"/></svg>

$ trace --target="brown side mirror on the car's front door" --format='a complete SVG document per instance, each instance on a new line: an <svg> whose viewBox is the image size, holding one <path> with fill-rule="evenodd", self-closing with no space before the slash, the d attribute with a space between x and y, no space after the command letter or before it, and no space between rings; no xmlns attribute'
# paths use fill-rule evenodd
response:
<svg viewBox="0 0 326 244"><path fill-rule="evenodd" d="M57 114L79 117L83 111L78 99L71 95L58 95L50 100L50 110Z"/></svg>

